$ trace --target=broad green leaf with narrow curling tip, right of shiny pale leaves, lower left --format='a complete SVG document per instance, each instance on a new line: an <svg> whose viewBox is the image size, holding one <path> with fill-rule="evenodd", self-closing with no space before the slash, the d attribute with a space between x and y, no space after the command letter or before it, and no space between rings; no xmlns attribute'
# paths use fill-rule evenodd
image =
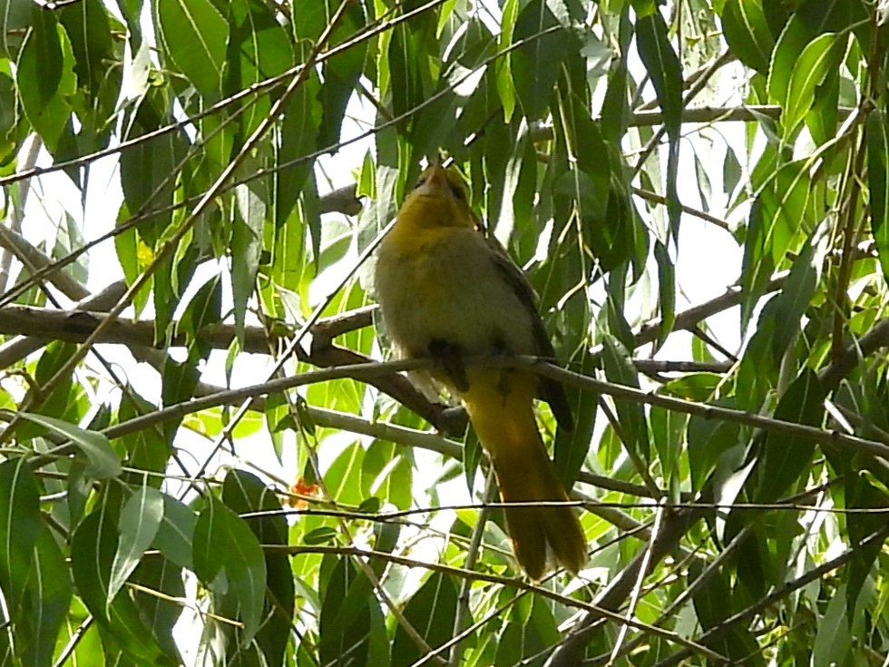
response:
<svg viewBox="0 0 889 667"><path fill-rule="evenodd" d="M249 645L259 630L266 597L266 561L256 535L210 495L194 526L193 557L200 581L215 595L230 594L237 618L244 623L239 645Z"/></svg>

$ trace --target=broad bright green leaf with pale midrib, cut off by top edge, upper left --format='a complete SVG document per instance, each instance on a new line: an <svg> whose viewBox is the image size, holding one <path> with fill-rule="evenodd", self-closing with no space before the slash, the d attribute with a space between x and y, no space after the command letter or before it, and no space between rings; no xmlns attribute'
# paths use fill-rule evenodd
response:
<svg viewBox="0 0 889 667"><path fill-rule="evenodd" d="M164 50L203 95L220 98L229 25L211 0L155 0Z"/></svg>

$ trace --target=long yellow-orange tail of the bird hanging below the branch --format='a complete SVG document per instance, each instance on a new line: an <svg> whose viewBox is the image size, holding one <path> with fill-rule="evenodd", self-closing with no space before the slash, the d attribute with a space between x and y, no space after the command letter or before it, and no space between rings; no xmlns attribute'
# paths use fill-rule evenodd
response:
<svg viewBox="0 0 889 667"><path fill-rule="evenodd" d="M477 370L463 394L504 503L568 500L537 430L535 379L523 371ZM572 507L507 507L504 514L515 557L532 580L542 578L551 559L575 574L586 563L586 540Z"/></svg>

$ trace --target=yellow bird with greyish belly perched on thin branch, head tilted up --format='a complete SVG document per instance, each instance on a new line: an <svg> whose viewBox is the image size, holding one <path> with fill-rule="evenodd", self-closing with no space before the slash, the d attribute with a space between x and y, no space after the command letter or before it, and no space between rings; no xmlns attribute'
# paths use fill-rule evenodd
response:
<svg viewBox="0 0 889 667"><path fill-rule="evenodd" d="M503 249L476 229L462 178L437 164L420 175L382 240L376 297L386 332L406 358L434 358L432 376L460 397L491 457L504 503L566 501L537 428L534 397L571 429L558 382L528 370L472 368L464 358L553 358L536 295ZM515 556L538 581L556 561L577 573L587 560L571 506L507 507Z"/></svg>

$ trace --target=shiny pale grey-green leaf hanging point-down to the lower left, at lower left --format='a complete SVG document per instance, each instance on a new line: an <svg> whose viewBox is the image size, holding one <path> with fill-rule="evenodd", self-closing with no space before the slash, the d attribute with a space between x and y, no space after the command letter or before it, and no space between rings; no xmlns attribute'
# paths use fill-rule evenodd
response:
<svg viewBox="0 0 889 667"><path fill-rule="evenodd" d="M109 605L142 560L142 554L151 546L162 518L163 495L147 483L135 489L123 505L118 525L117 554L108 581Z"/></svg>

